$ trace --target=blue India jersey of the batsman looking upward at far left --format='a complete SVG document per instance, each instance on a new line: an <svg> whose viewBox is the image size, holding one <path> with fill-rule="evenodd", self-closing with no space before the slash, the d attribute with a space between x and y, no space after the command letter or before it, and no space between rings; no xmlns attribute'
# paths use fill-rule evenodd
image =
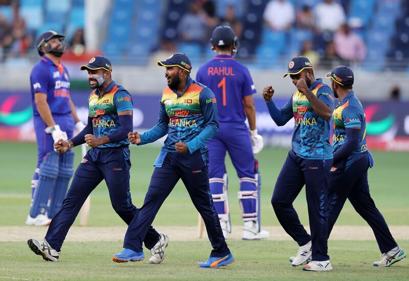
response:
<svg viewBox="0 0 409 281"><path fill-rule="evenodd" d="M47 103L52 114L69 114L70 107L70 76L66 68L46 56L41 57L30 74L31 98L34 116L39 116L34 102L35 93L47 94Z"/></svg>

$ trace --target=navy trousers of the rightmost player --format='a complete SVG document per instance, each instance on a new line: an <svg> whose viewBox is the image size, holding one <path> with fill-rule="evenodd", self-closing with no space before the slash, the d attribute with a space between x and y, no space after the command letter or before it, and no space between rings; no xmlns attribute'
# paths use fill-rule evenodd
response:
<svg viewBox="0 0 409 281"><path fill-rule="evenodd" d="M356 212L367 221L375 234L381 253L398 246L389 231L382 214L376 208L368 184L368 154L353 162L346 170L338 168L330 172L328 193L328 235L331 233L347 198Z"/></svg>

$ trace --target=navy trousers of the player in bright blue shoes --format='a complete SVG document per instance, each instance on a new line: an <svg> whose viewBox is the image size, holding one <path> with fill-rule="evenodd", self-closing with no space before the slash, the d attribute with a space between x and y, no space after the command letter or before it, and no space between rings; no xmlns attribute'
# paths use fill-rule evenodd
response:
<svg viewBox="0 0 409 281"><path fill-rule="evenodd" d="M142 251L142 242L156 213L181 179L189 196L205 221L212 256L225 256L230 250L224 241L219 218L209 190L206 157L199 150L193 154L167 153L161 167L155 167L143 206L139 209L125 234L124 248Z"/></svg>

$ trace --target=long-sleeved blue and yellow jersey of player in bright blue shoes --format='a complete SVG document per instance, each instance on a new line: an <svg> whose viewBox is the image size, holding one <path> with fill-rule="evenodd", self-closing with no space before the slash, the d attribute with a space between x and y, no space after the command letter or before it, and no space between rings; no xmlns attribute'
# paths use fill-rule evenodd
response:
<svg viewBox="0 0 409 281"><path fill-rule="evenodd" d="M165 152L176 152L175 143L185 142L189 152L207 150L206 143L218 131L216 98L205 85L188 78L185 91L176 93L166 88L160 101L160 112L156 125L141 135L141 144L153 142L166 134L162 148Z"/></svg>

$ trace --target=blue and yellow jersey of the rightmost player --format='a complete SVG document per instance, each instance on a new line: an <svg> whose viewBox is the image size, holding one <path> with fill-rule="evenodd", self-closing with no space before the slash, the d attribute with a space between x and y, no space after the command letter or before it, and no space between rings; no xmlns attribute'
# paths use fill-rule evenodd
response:
<svg viewBox="0 0 409 281"><path fill-rule="evenodd" d="M351 154L365 153L368 150L366 140L365 112L354 92L351 91L342 101L338 102L332 114L334 135L332 137L333 152L347 141L345 128L360 127L359 143Z"/></svg>

